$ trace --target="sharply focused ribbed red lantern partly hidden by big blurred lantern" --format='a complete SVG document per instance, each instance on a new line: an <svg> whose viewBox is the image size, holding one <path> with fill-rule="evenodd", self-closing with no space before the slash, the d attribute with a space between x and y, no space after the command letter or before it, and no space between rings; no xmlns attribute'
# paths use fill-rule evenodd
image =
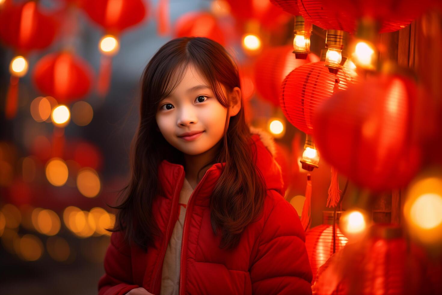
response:
<svg viewBox="0 0 442 295"><path fill-rule="evenodd" d="M312 134L316 108L328 100L334 91L347 89L351 81L343 70L337 74L330 73L324 61L301 65L282 82L282 111L293 126Z"/></svg>

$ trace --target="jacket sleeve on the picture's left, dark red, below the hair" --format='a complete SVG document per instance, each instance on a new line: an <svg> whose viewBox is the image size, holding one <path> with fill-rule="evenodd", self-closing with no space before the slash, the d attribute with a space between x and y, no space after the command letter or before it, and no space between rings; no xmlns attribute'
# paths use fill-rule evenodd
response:
<svg viewBox="0 0 442 295"><path fill-rule="evenodd" d="M122 232L110 235L104 257L105 274L98 282L99 295L124 295L140 286L133 284L130 247L124 245Z"/></svg>

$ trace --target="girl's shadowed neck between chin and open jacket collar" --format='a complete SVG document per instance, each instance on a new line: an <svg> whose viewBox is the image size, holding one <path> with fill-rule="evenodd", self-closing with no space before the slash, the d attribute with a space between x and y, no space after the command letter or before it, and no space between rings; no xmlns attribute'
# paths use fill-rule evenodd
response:
<svg viewBox="0 0 442 295"><path fill-rule="evenodd" d="M207 163L217 157L220 145L221 141L211 149L198 155L184 154L184 171L186 172L186 179L192 188L197 186L198 182L210 168L211 165L208 165Z"/></svg>

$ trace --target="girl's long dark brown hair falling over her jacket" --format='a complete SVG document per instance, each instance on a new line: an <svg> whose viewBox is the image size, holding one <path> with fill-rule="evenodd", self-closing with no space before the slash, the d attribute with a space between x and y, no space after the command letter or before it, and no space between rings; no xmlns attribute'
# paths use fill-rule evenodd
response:
<svg viewBox="0 0 442 295"><path fill-rule="evenodd" d="M182 80L187 65L194 65L206 78L217 100L224 107L229 91L240 87L238 68L223 46L208 38L184 37L162 46L149 61L141 77L140 123L131 144L129 183L120 190L121 203L114 228L124 231L125 239L146 251L153 245L159 228L152 215L152 201L162 194L158 165L164 159L183 164L183 153L172 147L156 124L160 100L169 96ZM241 102L243 105L243 101ZM229 118L229 112L227 113ZM208 165L225 163L210 196L213 233L221 232L221 248L232 249L244 228L261 213L266 193L265 182L255 167L251 134L244 118L244 108L226 118L220 153ZM228 125L228 127L227 127Z"/></svg>

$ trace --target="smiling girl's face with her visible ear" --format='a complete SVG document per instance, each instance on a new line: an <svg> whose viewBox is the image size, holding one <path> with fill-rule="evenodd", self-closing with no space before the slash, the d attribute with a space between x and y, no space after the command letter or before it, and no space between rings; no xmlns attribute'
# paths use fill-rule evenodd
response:
<svg viewBox="0 0 442 295"><path fill-rule="evenodd" d="M224 95L226 88L221 85ZM229 116L240 110L240 90L232 92L235 106ZM170 96L158 104L156 123L168 143L187 155L211 149L224 135L227 108L214 96L206 79L193 65L188 65L183 80Z"/></svg>

